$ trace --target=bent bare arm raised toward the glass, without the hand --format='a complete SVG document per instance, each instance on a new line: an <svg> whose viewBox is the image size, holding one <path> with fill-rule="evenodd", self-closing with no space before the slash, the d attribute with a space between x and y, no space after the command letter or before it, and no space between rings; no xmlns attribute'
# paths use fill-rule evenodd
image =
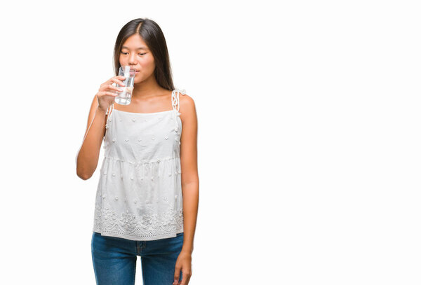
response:
<svg viewBox="0 0 421 285"><path fill-rule="evenodd" d="M107 115L105 111L98 108L98 99L95 95L88 116L85 137L76 158L76 174L83 180L91 178L98 166L106 122Z"/></svg>

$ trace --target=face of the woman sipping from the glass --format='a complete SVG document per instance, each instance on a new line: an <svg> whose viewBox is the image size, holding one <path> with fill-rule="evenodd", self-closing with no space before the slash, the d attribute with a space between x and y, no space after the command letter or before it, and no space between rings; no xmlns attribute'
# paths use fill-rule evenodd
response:
<svg viewBox="0 0 421 285"><path fill-rule="evenodd" d="M154 57L139 34L133 34L123 43L119 60L121 65L136 69L135 84L154 76Z"/></svg>

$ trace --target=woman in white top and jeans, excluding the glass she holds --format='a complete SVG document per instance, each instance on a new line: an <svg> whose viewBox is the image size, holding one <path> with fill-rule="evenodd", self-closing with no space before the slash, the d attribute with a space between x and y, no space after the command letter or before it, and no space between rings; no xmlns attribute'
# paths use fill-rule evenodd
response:
<svg viewBox="0 0 421 285"><path fill-rule="evenodd" d="M117 74L127 65L137 71L131 104L114 104L121 89L112 83L123 86ZM145 285L188 284L199 202L194 100L174 88L165 38L147 18L119 32L114 71L93 98L76 156L77 175L89 179L104 139L91 242L95 279L134 284L140 256Z"/></svg>

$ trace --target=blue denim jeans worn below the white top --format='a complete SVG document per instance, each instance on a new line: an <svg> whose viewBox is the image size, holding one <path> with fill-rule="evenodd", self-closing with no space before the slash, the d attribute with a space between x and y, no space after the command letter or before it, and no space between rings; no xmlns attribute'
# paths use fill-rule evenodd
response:
<svg viewBox="0 0 421 285"><path fill-rule="evenodd" d="M183 238L184 232L180 232L176 237L135 241L93 232L91 249L96 283L135 284L136 260L140 256L144 285L172 285ZM179 279L182 280L181 271Z"/></svg>

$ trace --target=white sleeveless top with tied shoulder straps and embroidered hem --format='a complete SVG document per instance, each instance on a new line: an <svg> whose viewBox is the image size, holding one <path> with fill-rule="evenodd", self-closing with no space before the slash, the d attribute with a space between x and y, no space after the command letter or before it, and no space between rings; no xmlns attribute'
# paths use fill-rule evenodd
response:
<svg viewBox="0 0 421 285"><path fill-rule="evenodd" d="M183 232L180 92L169 111L107 110L93 231L132 240Z"/></svg>

